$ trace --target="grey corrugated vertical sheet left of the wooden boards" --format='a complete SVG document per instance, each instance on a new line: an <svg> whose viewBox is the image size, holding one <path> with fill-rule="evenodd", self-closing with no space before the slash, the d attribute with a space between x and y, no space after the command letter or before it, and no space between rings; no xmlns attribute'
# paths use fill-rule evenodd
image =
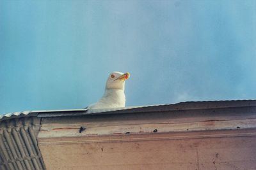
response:
<svg viewBox="0 0 256 170"><path fill-rule="evenodd" d="M14 115L19 117L22 113L14 113ZM29 115L29 112L24 112L23 115ZM12 114L6 116L13 117ZM40 118L37 117L9 119L1 122L0 169L45 169L37 142L39 129Z"/></svg>

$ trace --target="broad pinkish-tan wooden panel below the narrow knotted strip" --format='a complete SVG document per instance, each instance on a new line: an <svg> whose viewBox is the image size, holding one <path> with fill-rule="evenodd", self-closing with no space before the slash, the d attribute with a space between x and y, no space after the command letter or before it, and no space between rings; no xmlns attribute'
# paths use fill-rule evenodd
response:
<svg viewBox="0 0 256 170"><path fill-rule="evenodd" d="M112 137L97 136L92 143L88 139L90 137L86 136L69 138L69 142L67 138L55 138L55 141L40 139L39 146L47 169L256 168L255 130L223 131L226 136L221 138L220 131L216 132L219 136L211 138L207 138L208 132L179 133L180 136L190 136L183 139L173 133L119 135L115 136L116 141L104 142L102 139ZM129 140L122 141L124 136ZM61 143L61 140L64 142ZM86 140L87 142L84 142Z"/></svg>

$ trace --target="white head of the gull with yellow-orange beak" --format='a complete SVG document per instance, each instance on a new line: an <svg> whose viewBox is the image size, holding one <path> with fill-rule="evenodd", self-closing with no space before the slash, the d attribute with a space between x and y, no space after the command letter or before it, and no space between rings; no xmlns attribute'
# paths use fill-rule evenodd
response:
<svg viewBox="0 0 256 170"><path fill-rule="evenodd" d="M130 73L121 73L114 71L109 74L108 80L106 83L106 89L120 89L124 90L125 80L130 77Z"/></svg>

